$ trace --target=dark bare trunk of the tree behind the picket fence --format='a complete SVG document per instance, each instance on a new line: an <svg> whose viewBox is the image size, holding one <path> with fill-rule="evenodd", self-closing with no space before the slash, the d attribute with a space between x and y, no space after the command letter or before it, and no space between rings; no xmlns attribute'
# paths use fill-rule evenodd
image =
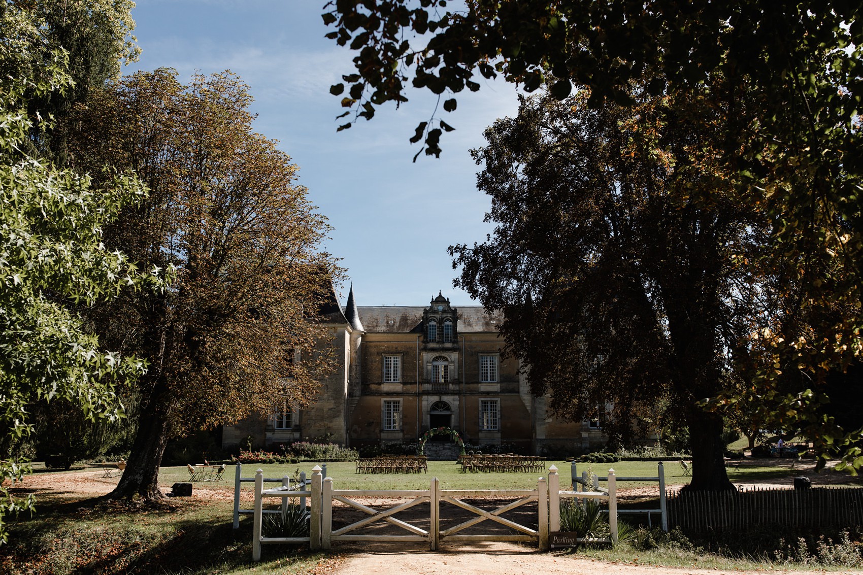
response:
<svg viewBox="0 0 863 575"><path fill-rule="evenodd" d="M722 416L693 406L687 414L692 452L692 481L688 491L734 490L725 469Z"/></svg>

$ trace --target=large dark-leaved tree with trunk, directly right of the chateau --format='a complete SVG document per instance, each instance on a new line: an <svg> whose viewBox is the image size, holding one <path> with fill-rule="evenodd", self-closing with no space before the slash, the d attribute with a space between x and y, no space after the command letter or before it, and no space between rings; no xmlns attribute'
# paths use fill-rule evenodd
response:
<svg viewBox="0 0 863 575"><path fill-rule="evenodd" d="M685 106L523 99L474 151L494 236L450 253L457 284L504 310L534 393L624 440L659 404L666 424L689 428L690 489L726 490L723 417L702 400L728 389L731 351L765 312L754 292L769 278L740 262L769 220L715 163L724 117L702 92Z"/></svg>

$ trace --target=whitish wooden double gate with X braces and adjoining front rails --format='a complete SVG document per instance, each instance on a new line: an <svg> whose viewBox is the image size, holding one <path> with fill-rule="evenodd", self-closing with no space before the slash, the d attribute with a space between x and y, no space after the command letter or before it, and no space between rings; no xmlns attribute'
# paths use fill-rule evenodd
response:
<svg viewBox="0 0 863 575"><path fill-rule="evenodd" d="M261 559L261 544L264 543L304 543L308 542L312 550L330 549L333 541L427 541L432 551L437 550L441 541L536 541L540 550L549 548L549 532L560 529L560 498L561 497L594 497L608 498L608 522L611 528L611 537L608 541L617 541L617 490L614 482L614 470L609 470L607 492L595 491L560 491L560 478L557 475L557 467L549 468L548 479L539 477L535 490L442 490L438 478L431 479L428 490L336 490L333 488L332 477L321 474L317 465L312 469L312 481L307 490L290 490L289 487L280 486L264 490L263 471L260 469L255 473L255 509L254 528L252 539L252 559ZM310 497L312 501L310 534L307 537L277 538L263 537L261 534L262 519L264 514L264 497L281 497L282 502L288 497ZM389 509L377 510L356 502L356 497L375 498L410 498ZM517 497L497 509L480 509L459 497ZM360 521L337 530L332 529L332 502L342 502L345 505L359 509L369 515ZM537 502L537 528L522 525L511 521L502 514L516 509L528 502ZM401 521L394 515L411 509L416 505L430 503L430 523L428 530L419 528L407 521ZM450 503L458 508L464 509L476 515L468 521L463 521L453 527L441 530L440 528L440 504ZM387 521L395 525L407 534L357 534L356 531L368 527L376 521ZM482 521L494 521L508 528L513 528L517 534L463 534L462 532L475 526Z"/></svg>

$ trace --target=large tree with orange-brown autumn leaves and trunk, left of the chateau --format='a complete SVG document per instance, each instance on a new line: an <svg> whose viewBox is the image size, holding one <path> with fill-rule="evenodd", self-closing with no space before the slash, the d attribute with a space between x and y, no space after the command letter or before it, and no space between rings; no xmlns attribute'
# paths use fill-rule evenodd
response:
<svg viewBox="0 0 863 575"><path fill-rule="evenodd" d="M106 341L151 365L112 496L160 499L168 439L272 413L286 399L301 405L327 367L315 310L337 273L320 250L329 227L290 158L252 130L250 102L230 73L183 85L158 70L93 94L69 124L75 165L133 169L150 190L105 243L176 269L164 293L127 294L90 313Z"/></svg>

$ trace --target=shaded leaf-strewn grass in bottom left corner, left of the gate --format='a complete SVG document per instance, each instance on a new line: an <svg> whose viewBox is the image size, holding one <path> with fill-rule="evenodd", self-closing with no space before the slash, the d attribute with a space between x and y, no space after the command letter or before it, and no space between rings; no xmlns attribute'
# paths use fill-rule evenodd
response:
<svg viewBox="0 0 863 575"><path fill-rule="evenodd" d="M250 518L235 530L225 502L171 500L134 509L104 498L43 501L36 515L11 526L0 572L245 572L252 567L251 540ZM307 572L323 557L294 546L268 546L267 555L280 572L293 564Z"/></svg>

